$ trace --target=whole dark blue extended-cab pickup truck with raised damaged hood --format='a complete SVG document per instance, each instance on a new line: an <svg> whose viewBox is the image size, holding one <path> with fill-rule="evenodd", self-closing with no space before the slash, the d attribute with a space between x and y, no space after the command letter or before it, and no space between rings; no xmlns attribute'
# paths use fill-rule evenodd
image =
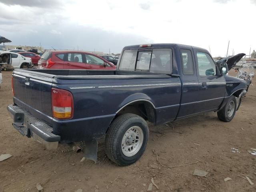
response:
<svg viewBox="0 0 256 192"><path fill-rule="evenodd" d="M104 138L107 156L125 166L146 149L146 121L165 124L205 112L232 120L246 82L226 70L194 46L126 46L116 71L14 70L14 104L7 109L16 130L48 149L84 141L86 158L96 160L97 140Z"/></svg>

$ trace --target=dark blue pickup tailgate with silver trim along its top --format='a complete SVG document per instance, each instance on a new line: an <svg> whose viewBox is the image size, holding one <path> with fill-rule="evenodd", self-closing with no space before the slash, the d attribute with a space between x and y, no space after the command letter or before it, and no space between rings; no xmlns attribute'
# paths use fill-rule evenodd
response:
<svg viewBox="0 0 256 192"><path fill-rule="evenodd" d="M54 75L14 70L14 104L52 125L51 88Z"/></svg>

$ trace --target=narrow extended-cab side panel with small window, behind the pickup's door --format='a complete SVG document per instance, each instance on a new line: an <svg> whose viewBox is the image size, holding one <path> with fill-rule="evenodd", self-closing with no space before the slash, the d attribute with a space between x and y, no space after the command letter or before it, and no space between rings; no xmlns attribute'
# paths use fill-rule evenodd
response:
<svg viewBox="0 0 256 192"><path fill-rule="evenodd" d="M199 112L197 106L199 83L192 48L180 46L180 50L176 53L176 60L178 63L181 63L179 70L181 71L180 76L182 79L180 110L177 116L179 119Z"/></svg>

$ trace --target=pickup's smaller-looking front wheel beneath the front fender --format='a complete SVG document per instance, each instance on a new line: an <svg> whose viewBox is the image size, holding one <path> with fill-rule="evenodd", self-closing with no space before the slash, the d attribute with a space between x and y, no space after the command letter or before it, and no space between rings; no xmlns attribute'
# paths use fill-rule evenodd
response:
<svg viewBox="0 0 256 192"><path fill-rule="evenodd" d="M233 112L230 112L230 105L234 107L234 110L232 110ZM230 122L236 114L236 105L236 97L234 95L230 96L226 105L217 112L219 120Z"/></svg>

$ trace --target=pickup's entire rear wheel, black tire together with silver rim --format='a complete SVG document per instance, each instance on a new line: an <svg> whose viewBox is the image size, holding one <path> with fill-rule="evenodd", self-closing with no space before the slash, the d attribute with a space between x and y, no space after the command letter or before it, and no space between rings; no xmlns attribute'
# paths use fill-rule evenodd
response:
<svg viewBox="0 0 256 192"><path fill-rule="evenodd" d="M148 124L135 114L116 118L106 133L106 154L121 166L136 162L144 153L148 142Z"/></svg>

